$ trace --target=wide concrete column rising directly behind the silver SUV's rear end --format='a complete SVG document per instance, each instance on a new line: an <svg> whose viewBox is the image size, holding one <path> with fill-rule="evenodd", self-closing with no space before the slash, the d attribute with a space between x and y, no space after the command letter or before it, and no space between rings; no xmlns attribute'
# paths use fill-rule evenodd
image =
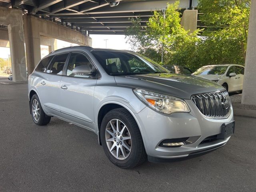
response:
<svg viewBox="0 0 256 192"><path fill-rule="evenodd" d="M28 75L31 74L41 60L40 26L31 16L24 15L24 34L26 42L26 56Z"/></svg>

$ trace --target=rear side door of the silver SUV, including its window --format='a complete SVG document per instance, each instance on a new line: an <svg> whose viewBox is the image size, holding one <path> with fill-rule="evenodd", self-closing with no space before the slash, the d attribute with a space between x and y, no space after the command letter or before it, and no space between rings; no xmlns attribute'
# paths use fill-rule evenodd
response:
<svg viewBox="0 0 256 192"><path fill-rule="evenodd" d="M60 81L68 53L55 55L42 75L38 92L46 112L60 115Z"/></svg>

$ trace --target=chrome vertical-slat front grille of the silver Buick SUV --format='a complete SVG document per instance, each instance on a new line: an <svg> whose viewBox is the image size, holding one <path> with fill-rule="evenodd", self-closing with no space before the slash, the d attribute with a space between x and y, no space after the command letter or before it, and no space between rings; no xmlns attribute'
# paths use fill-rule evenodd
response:
<svg viewBox="0 0 256 192"><path fill-rule="evenodd" d="M231 108L227 91L193 95L191 100L200 112L207 117L225 117Z"/></svg>

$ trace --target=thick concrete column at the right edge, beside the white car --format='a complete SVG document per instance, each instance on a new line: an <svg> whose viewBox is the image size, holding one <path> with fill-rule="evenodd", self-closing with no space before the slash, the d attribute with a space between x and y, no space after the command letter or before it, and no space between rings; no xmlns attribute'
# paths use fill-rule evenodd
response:
<svg viewBox="0 0 256 192"><path fill-rule="evenodd" d="M251 1L242 104L256 105L256 1Z"/></svg>

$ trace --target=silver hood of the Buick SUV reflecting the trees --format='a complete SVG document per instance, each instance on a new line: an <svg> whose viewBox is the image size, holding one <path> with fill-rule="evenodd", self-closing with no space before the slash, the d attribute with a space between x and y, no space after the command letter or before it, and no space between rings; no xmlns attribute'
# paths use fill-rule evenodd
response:
<svg viewBox="0 0 256 192"><path fill-rule="evenodd" d="M172 73L115 76L115 80L120 86L141 88L183 99L190 99L193 94L224 90L212 81Z"/></svg>

